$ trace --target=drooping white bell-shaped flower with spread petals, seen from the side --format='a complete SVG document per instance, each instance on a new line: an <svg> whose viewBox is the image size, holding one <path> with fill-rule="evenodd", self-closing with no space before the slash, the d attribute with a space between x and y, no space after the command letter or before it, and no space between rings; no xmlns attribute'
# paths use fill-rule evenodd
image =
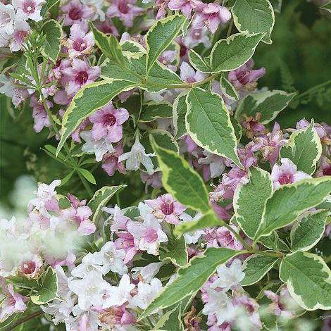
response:
<svg viewBox="0 0 331 331"><path fill-rule="evenodd" d="M140 167L140 163L144 165L149 175L154 174L154 165L151 161L151 156L155 156L154 153L146 154L144 146L140 144L139 137L136 135L135 144L133 144L131 151L122 154L118 158L118 162L126 160L126 170L137 171Z"/></svg>

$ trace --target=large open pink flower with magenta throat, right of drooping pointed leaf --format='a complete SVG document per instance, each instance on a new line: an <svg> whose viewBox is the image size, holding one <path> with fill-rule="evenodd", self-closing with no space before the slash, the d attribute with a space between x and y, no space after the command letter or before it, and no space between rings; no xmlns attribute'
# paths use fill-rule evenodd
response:
<svg viewBox="0 0 331 331"><path fill-rule="evenodd" d="M89 116L93 123L92 137L99 140L108 137L111 142L119 142L122 139L122 125L129 118L129 113L125 108L113 108L109 102L104 108Z"/></svg>

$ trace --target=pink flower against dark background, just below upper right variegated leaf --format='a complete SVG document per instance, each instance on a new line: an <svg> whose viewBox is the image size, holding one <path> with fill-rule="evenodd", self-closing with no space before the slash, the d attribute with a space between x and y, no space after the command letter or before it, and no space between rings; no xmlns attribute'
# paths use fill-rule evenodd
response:
<svg viewBox="0 0 331 331"><path fill-rule="evenodd" d="M236 70L230 71L227 79L232 82L236 89L246 88L249 91L256 88L257 80L266 74L266 68L252 70L254 60L251 58L248 62Z"/></svg>

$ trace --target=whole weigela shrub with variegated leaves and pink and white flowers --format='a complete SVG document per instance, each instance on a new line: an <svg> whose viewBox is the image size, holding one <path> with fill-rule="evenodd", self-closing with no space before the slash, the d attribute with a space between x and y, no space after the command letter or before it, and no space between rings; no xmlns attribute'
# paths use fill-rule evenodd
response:
<svg viewBox="0 0 331 331"><path fill-rule="evenodd" d="M331 127L258 88L281 1L206 2L1 1L0 92L68 170L1 220L1 330L330 330Z"/></svg>

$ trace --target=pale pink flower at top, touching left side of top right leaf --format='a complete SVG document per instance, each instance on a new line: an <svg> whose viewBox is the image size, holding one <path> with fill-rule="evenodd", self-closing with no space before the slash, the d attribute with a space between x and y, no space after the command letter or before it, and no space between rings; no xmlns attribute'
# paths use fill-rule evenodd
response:
<svg viewBox="0 0 331 331"><path fill-rule="evenodd" d="M218 29L218 25L220 25L220 23L227 23L230 18L230 11L219 4L201 4L201 6L196 8L192 27L194 27L194 29L201 29L201 27L206 25L211 33L215 33Z"/></svg>

